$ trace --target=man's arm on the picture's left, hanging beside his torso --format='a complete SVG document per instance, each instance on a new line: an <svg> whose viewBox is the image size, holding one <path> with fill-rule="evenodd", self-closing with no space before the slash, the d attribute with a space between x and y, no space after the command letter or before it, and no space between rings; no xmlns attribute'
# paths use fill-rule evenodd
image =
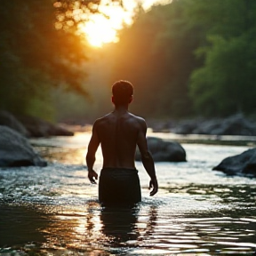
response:
<svg viewBox="0 0 256 256"><path fill-rule="evenodd" d="M88 178L91 181L92 184L96 184L95 180L98 180L98 174L93 170L93 165L95 163L96 157L96 151L100 145L100 139L98 136L98 133L96 131L97 124L93 124L92 127L92 138L88 145L88 150L86 154L86 164L88 168Z"/></svg>

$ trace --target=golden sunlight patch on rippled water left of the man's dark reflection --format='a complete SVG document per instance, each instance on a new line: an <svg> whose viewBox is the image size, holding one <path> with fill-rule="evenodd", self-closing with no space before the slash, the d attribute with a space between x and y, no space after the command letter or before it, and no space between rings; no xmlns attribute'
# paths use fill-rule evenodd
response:
<svg viewBox="0 0 256 256"><path fill-rule="evenodd" d="M91 252L101 250L106 240L102 234L100 221L100 205L89 201L77 207L61 207L58 212L49 216L50 225L44 228L47 251L78 250ZM101 252L101 251L100 251Z"/></svg>

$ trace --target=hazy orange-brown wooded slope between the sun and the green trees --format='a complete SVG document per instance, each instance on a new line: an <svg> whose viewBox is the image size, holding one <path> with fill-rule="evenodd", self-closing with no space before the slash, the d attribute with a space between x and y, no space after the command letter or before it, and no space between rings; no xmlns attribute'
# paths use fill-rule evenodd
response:
<svg viewBox="0 0 256 256"><path fill-rule="evenodd" d="M197 28L188 24L187 5L184 0L172 1L141 13L132 28L124 29L116 45L113 80L131 80L136 95L132 109L142 116L191 113L188 79L200 64L193 52L201 38Z"/></svg>

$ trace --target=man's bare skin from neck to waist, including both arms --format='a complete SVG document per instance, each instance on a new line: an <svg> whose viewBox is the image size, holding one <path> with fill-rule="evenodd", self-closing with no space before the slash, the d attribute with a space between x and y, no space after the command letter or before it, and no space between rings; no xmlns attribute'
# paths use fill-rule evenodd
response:
<svg viewBox="0 0 256 256"><path fill-rule="evenodd" d="M132 100L131 100L132 101ZM95 184L98 174L93 170L97 148L101 146L103 155L103 168L135 169L134 156L138 145L142 163L151 178L149 188L150 196L158 190L155 164L148 152L146 139L147 124L139 116L128 112L128 104L118 106L106 116L97 119L92 127L92 138L89 142L86 163L88 178Z"/></svg>

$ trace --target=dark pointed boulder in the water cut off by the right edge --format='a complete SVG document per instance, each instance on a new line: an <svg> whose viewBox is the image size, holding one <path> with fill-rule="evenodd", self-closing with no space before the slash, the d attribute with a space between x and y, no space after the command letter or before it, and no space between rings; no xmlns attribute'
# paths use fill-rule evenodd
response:
<svg viewBox="0 0 256 256"><path fill-rule="evenodd" d="M240 155L229 156L212 170L228 175L250 175L256 177L256 148L244 151Z"/></svg>

